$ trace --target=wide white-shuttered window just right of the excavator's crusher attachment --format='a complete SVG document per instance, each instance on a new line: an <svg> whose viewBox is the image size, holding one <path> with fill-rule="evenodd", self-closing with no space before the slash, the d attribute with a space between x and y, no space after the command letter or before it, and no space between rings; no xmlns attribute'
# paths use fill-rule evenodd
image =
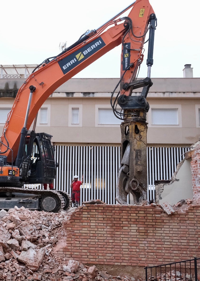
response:
<svg viewBox="0 0 200 281"><path fill-rule="evenodd" d="M177 108L152 108L152 125L178 125Z"/></svg>

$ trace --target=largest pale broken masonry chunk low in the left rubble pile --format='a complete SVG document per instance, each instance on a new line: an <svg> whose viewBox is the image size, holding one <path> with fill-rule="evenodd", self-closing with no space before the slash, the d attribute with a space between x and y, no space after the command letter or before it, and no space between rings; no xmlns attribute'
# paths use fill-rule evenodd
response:
<svg viewBox="0 0 200 281"><path fill-rule="evenodd" d="M24 263L32 271L38 270L45 255L45 248L21 251L18 261Z"/></svg>

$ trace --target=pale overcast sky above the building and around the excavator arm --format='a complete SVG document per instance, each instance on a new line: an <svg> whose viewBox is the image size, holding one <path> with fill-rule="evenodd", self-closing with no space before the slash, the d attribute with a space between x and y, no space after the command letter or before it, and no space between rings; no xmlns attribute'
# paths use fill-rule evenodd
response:
<svg viewBox="0 0 200 281"><path fill-rule="evenodd" d="M40 64L97 29L134 0L1 1L0 64ZM151 78L183 77L185 64L200 77L199 0L150 0L158 19ZM146 37L147 38L147 37ZM75 77L120 76L121 47L116 47ZM139 78L147 76L147 47Z"/></svg>

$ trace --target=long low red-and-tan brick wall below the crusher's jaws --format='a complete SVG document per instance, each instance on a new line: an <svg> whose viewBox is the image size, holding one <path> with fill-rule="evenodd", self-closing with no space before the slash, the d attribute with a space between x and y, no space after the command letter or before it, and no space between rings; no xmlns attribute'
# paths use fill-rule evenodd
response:
<svg viewBox="0 0 200 281"><path fill-rule="evenodd" d="M167 215L158 206L86 205L63 225L58 254L84 264L147 266L199 257L200 205Z"/></svg>

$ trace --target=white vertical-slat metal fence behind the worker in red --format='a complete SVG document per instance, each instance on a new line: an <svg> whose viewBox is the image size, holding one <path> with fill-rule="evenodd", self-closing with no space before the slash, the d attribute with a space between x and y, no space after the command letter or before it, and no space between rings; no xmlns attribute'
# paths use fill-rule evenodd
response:
<svg viewBox="0 0 200 281"><path fill-rule="evenodd" d="M116 182L120 165L120 147L115 146L56 146L54 187L71 195L70 184L74 175L84 175L80 204L100 199L115 204ZM147 199L155 199L154 180L169 180L177 164L184 158L185 147L147 147Z"/></svg>

